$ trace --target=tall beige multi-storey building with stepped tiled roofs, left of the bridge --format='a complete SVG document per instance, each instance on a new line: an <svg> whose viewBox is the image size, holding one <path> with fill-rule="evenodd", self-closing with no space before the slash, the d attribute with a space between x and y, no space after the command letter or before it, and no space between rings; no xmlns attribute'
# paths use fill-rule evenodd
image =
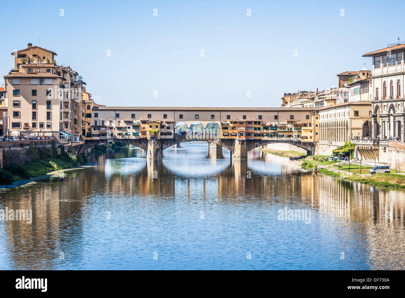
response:
<svg viewBox="0 0 405 298"><path fill-rule="evenodd" d="M85 82L70 66L56 64L56 53L31 43L11 53L14 69L4 75L10 136L55 137L77 146L83 136ZM8 95L9 94L9 95ZM85 93L86 94L86 93Z"/></svg>

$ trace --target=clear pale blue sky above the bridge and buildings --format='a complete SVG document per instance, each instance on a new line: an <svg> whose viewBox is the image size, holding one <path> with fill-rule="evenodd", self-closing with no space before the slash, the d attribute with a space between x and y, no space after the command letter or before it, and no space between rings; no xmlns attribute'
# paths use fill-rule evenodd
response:
<svg viewBox="0 0 405 298"><path fill-rule="evenodd" d="M336 86L338 73L371 69L362 54L405 40L405 4L387 3L3 1L0 71L40 37L97 103L278 107L284 92Z"/></svg>

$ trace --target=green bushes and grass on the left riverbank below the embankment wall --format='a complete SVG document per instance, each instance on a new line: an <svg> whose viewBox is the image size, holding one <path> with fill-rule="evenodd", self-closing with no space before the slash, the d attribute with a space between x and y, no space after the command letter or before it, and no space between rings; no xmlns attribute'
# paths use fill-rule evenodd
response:
<svg viewBox="0 0 405 298"><path fill-rule="evenodd" d="M47 149L49 150L49 148ZM21 165L8 163L0 170L0 184L11 184L13 181L26 180L60 169L77 167L87 163L87 160L85 153L76 155L73 152L65 153L61 149L61 154L57 158L41 158Z"/></svg>

